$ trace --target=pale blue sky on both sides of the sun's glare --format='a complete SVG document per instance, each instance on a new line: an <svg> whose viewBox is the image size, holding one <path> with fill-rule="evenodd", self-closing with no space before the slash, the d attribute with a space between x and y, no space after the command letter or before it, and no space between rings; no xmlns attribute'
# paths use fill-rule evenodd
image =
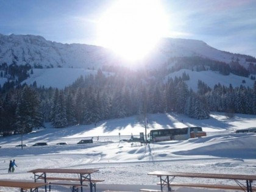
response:
<svg viewBox="0 0 256 192"><path fill-rule="evenodd" d="M116 1L0 0L0 34L101 45L96 43L97 23ZM256 57L255 0L158 1L168 18L165 37L202 40L222 51Z"/></svg>

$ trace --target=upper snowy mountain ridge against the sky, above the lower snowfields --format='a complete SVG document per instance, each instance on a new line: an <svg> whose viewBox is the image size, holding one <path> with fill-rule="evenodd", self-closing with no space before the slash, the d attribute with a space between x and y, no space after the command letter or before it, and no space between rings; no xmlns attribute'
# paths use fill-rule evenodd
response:
<svg viewBox="0 0 256 192"><path fill-rule="evenodd" d="M135 45L136 46L136 45ZM140 64L159 66L172 57L202 57L220 62L230 63L236 60L248 68L247 55L232 54L219 51L199 40L163 38L158 46L140 61ZM35 35L1 35L0 63L41 65L47 67L98 68L104 64L129 63L120 60L108 49L88 44L62 44L45 40ZM133 65L136 66L136 65Z"/></svg>

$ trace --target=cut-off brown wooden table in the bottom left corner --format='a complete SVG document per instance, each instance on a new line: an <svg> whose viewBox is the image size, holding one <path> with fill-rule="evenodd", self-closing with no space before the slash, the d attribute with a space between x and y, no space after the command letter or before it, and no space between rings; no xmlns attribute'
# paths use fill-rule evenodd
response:
<svg viewBox="0 0 256 192"><path fill-rule="evenodd" d="M43 187L46 185L48 185L48 183L24 182L20 180L0 180L1 187L20 188L21 192L26 192L27 190L30 190L30 192L38 192L38 187Z"/></svg>

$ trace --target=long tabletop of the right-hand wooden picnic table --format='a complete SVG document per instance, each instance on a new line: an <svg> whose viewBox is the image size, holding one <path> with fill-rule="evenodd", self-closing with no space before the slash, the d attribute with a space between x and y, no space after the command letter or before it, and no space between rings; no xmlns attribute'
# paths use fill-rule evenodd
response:
<svg viewBox="0 0 256 192"><path fill-rule="evenodd" d="M171 171L152 171L148 175L155 176L176 176L176 177L204 177L213 179L235 179L235 180L256 180L253 175L239 175L239 174L212 174L199 172L171 172Z"/></svg>

